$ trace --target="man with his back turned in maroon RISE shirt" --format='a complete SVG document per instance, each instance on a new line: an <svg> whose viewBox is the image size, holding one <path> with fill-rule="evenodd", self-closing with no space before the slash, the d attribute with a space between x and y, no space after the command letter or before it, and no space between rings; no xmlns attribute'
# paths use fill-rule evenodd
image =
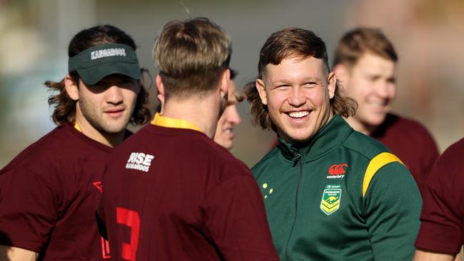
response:
<svg viewBox="0 0 464 261"><path fill-rule="evenodd" d="M278 260L250 170L211 139L228 97L228 35L205 18L171 21L153 53L162 115L115 150L103 177L111 257Z"/></svg>

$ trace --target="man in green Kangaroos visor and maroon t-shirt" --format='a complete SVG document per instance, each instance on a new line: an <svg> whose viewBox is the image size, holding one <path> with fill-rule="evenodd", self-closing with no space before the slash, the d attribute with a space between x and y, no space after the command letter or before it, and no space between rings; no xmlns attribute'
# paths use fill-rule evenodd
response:
<svg viewBox="0 0 464 261"><path fill-rule="evenodd" d="M101 173L131 121L150 121L136 44L114 26L80 31L69 74L45 84L58 125L0 170L0 259L109 260L95 210Z"/></svg>

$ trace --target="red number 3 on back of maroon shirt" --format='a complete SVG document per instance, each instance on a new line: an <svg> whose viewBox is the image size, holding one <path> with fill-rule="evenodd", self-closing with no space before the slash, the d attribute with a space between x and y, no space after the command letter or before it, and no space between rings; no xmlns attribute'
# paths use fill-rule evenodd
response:
<svg viewBox="0 0 464 261"><path fill-rule="evenodd" d="M127 208L116 207L116 222L131 227L131 242L123 242L122 259L136 261L138 234L140 232L140 217L138 213Z"/></svg>

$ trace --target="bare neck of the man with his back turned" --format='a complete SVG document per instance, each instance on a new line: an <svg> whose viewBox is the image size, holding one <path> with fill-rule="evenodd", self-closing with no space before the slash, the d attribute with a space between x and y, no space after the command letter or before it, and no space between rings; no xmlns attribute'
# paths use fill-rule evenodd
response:
<svg viewBox="0 0 464 261"><path fill-rule="evenodd" d="M163 109L163 116L177 118L193 123L203 130L209 138L213 138L218 123L220 100L213 92L207 96L192 96L179 99L169 98Z"/></svg>

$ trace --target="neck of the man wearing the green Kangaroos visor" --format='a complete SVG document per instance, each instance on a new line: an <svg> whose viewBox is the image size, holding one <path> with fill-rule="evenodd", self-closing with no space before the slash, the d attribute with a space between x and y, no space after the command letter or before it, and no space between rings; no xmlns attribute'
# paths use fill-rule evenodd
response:
<svg viewBox="0 0 464 261"><path fill-rule="evenodd" d="M110 148L116 148L119 144L121 144L126 133L126 129L119 133L104 133L98 131L94 128L94 126L91 126L89 121L87 121L84 116L81 116L80 113L76 113L76 123L82 134L103 145L107 145Z"/></svg>

